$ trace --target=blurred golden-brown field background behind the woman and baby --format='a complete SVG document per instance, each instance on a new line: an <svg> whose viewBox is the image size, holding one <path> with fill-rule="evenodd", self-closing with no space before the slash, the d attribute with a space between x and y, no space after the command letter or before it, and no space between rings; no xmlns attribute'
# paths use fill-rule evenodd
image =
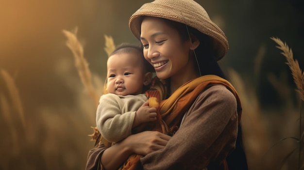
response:
<svg viewBox="0 0 304 170"><path fill-rule="evenodd" d="M144 2L0 1L0 170L84 169L94 145L88 135L95 126L96 102L78 75L63 30L78 28L93 87L101 95L104 36L112 36L116 45L138 43L128 20ZM229 41L219 63L241 96L250 170L296 170L299 143L279 141L299 138L304 103L270 37L286 42L304 68L304 1L197 2Z"/></svg>

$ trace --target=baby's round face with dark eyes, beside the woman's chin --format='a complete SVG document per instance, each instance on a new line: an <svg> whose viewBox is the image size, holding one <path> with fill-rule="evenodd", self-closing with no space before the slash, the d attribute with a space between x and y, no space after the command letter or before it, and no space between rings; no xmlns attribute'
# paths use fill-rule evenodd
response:
<svg viewBox="0 0 304 170"><path fill-rule="evenodd" d="M107 90L117 95L142 93L144 71L136 53L118 53L107 62Z"/></svg>

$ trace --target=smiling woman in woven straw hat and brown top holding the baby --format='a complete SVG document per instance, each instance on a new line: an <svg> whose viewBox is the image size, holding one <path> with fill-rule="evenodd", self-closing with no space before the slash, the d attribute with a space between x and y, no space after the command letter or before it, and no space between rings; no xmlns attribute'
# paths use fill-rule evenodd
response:
<svg viewBox="0 0 304 170"><path fill-rule="evenodd" d="M144 57L168 88L160 114L172 137L156 131L90 151L87 169L118 169L132 154L138 169L246 170L241 105L217 63L228 50L224 33L193 0L155 0L130 18Z"/></svg>

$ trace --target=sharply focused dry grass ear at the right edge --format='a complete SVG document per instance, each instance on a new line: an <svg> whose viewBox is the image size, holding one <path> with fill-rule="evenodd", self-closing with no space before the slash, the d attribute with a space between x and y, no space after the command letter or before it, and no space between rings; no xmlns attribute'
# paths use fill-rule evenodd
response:
<svg viewBox="0 0 304 170"><path fill-rule="evenodd" d="M277 48L283 51L281 54L286 57L287 65L291 70L292 77L298 88L296 91L299 93L301 100L304 101L304 72L302 72L299 62L293 59L292 50L287 46L286 43L283 43L279 38L271 37L270 39L279 45Z"/></svg>

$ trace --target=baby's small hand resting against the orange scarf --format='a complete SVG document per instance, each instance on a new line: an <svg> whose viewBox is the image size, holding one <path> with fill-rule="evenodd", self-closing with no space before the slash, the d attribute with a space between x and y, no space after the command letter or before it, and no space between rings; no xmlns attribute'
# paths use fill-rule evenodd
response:
<svg viewBox="0 0 304 170"><path fill-rule="evenodd" d="M145 102L135 113L136 124L156 121L156 108L149 107L149 101Z"/></svg>

